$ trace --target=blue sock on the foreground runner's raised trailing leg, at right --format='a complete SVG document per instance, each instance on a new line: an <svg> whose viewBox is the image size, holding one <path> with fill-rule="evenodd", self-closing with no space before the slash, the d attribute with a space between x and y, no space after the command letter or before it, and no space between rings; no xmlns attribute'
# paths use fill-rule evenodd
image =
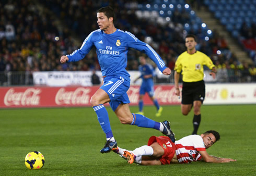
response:
<svg viewBox="0 0 256 176"><path fill-rule="evenodd" d="M132 115L133 115L133 121L131 125L136 125L138 127L144 127L144 128L154 128L156 130L160 129L159 122L146 118L143 115L139 115L139 114L132 114Z"/></svg>

